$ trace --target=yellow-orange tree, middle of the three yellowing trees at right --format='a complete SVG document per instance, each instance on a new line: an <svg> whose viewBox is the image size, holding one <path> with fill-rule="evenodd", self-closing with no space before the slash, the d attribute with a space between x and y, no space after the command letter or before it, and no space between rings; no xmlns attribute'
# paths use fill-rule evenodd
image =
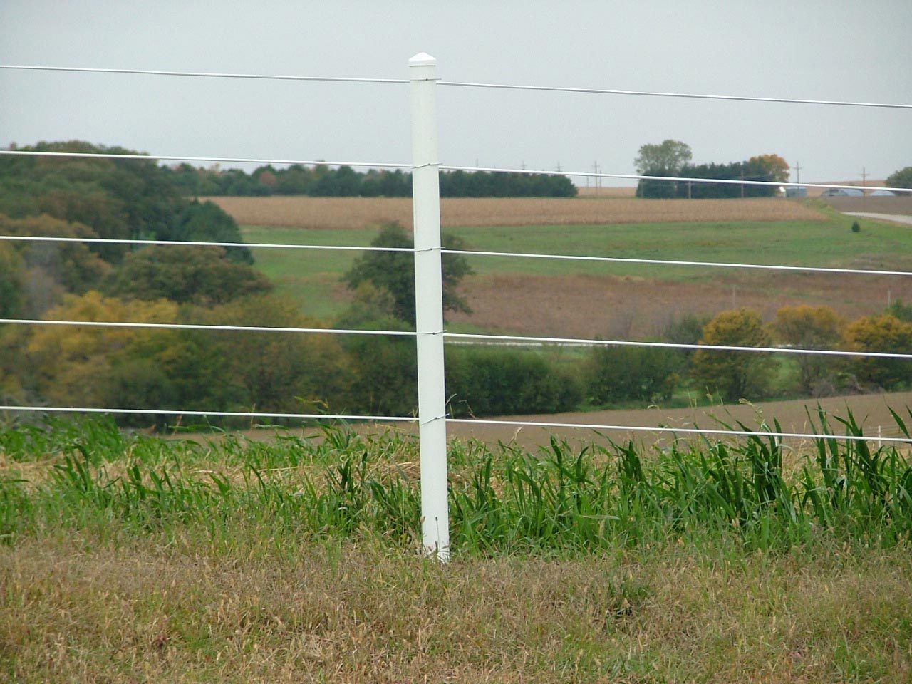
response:
<svg viewBox="0 0 912 684"><path fill-rule="evenodd" d="M776 338L789 347L834 349L842 341L845 319L829 306L782 306L776 312L774 329ZM819 354L799 354L796 357L801 387L813 394L818 383L832 375L832 358Z"/></svg>

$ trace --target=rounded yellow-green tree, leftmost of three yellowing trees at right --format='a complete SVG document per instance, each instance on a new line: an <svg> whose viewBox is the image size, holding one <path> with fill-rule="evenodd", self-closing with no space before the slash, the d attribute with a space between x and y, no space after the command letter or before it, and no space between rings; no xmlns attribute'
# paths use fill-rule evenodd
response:
<svg viewBox="0 0 912 684"><path fill-rule="evenodd" d="M703 327L700 344L728 347L770 347L772 337L760 314L751 309L722 311ZM720 392L723 399L761 399L768 393L775 361L766 352L698 349L691 376L700 388Z"/></svg>

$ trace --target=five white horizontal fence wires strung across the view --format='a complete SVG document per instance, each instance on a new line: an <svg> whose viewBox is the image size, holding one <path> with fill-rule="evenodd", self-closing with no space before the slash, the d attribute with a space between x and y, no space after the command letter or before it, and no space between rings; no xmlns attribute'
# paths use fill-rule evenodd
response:
<svg viewBox="0 0 912 684"><path fill-rule="evenodd" d="M111 75L126 76L150 76L150 77L182 77L182 78L233 78L233 79L264 79L264 80L285 80L285 81L325 81L335 83L353 83L353 84L385 84L385 85L408 85L409 79L399 78L342 78L342 77L320 77L320 76L297 76L297 75L270 75L270 74L238 74L238 73L214 73L214 72L185 72L185 71L161 71L149 69L127 69L127 68L88 68L88 67L45 67L34 65L0 65L0 69L18 69L30 71L57 71L57 72L83 72L98 73ZM880 109L912 109L912 104L889 103L889 102L858 102L844 100L820 100L820 99L801 99L801 98L769 98L759 96L741 96L741 95L721 95L721 94L693 94L693 93L674 93L674 92L654 92L654 91L634 91L618 90L609 88L575 88L575 87L557 87L557 86L535 86L535 85L515 85L515 84L495 84L495 83L472 83L472 82L455 82L435 80L436 87L451 88L488 88L488 89L513 89L513 90L532 90L539 92L554 93L585 93L592 95L606 96L630 96L646 98L689 98L689 99L707 99L707 100L739 100L749 102L769 102L789 105L814 105L824 107L857 107L857 108L880 108ZM302 165L302 166L350 166L358 168L372 169L399 169L416 171L422 165L416 164L413 160L410 163L389 162L389 161L324 161L324 160L294 160L294 159L265 159L265 158L241 158L241 157L215 157L215 156L187 156L176 154L164 155L139 155L139 154L119 154L119 153L80 153L80 152L61 152L61 151L35 151L35 150L0 150L2 155L19 155L19 156L43 156L43 157L69 157L69 158L101 158L113 160L144 160L144 161L185 161L185 162L209 162L209 163L236 163L236 164L275 164L275 165ZM527 169L501 169L483 166L451 166L433 162L435 172L440 171L486 171L496 173L521 173L534 175L560 175L575 178L593 178L593 179L616 179L630 181L689 181L696 183L716 183L716 184L738 184L738 185L755 185L755 186L777 186L777 187L812 187L812 188L857 188L855 185L841 185L833 183L797 183L797 182L772 182L772 181L751 181L751 180L729 180L729 179L705 179L705 178L682 178L678 176L654 176L643 174L629 173L607 173L592 171L533 171ZM891 186L868 186L868 191L887 190L887 191L906 191L905 188ZM287 249L287 250L340 250L340 251L375 251L375 252L400 252L419 254L420 252L435 251L438 254L462 254L479 257L523 257L529 259L563 259L569 261L587 261L602 262L606 264L662 264L674 266L692 266L692 267L710 267L726 269L753 269L767 271L797 272L797 273L818 273L818 274L839 274L839 275L890 275L907 277L912 272L896 270L877 270L877 269L859 269L859 268L827 268L801 265L783 265L783 264L750 264L750 263L720 263L706 261L687 261L671 259L645 259L632 257L611 257L611 256L594 256L586 254L528 254L513 252L486 252L477 250L449 250L430 247L428 249L416 248L398 248L398 247L372 247L372 246L355 246L355 245L319 245L319 244L270 244L270 243L236 243L236 242L208 242L208 241L162 241L162 240L128 240L128 239L109 239L109 238L90 238L90 237L63 237L63 236L22 236L22 235L0 235L0 240L6 241L26 241L26 242L57 242L57 243L83 243L83 244L129 244L134 246L146 245L183 245L199 247L247 247L263 249ZM96 326L96 327L134 327L150 329L187 329L187 330L223 330L235 332L268 332L268 333L295 333L295 334L332 334L332 335L364 335L364 336L389 336L389 337L418 337L419 333L415 331L401 330L372 330L372 329L350 329L350 328L323 328L323 327L276 327L276 326L223 326L223 325L192 325L178 323L140 323L130 321L86 321L86 320L46 320L32 318L0 318L0 324L7 325L26 325L26 326ZM448 342L458 343L501 343L501 344L523 344L523 345L586 345L586 346L607 346L607 347L658 347L673 349L709 349L719 351L734 351L745 353L779 353L792 355L820 355L834 357L855 357L855 358L897 358L912 359L912 353L892 353L892 352L873 352L873 351L846 351L835 349L816 349L816 348L791 348L791 347L741 347L741 346L723 346L723 345L695 345L695 344L676 344L667 342L648 342L633 340L593 340L576 337L530 337L530 336L505 336L505 335L482 335L482 334L457 334L450 333L442 328L435 332L442 339ZM419 422L416 416L390 416L390 415L355 415L355 414L326 414L326 413L270 413L258 411L201 411L201 410L184 410L180 408L158 410L158 409L136 409L136 408L91 408L91 407L47 407L47 406L17 406L5 405L0 406L0 410L5 411L43 411L43 412L70 412L70 413L118 413L118 414L156 414L156 415L187 415L200 417L244 417L251 419L299 419L299 420L371 420L371 421L406 421ZM438 420L441 417L433 417L430 420ZM544 428L581 428L589 430L648 430L652 432L675 432L680 434L699 434L699 435L729 435L729 436L750 436L762 434L764 436L774 436L780 439L800 438L800 439L846 439L843 436L836 437L827 434L799 433L799 432L774 432L763 430L762 432L751 432L750 430L704 430L704 429L671 429L655 428L649 426L623 426L610 424L585 424L585 423L562 423L547 421L524 421L524 420L481 420L481 419L445 419L451 423L459 424L477 424L477 425L512 425L516 427L536 426ZM912 442L901 434L881 435L884 440L896 442Z"/></svg>

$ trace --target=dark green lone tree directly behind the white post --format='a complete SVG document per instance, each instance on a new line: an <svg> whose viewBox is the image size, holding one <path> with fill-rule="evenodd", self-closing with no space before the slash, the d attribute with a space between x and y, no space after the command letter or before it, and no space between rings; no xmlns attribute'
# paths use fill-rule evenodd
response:
<svg viewBox="0 0 912 684"><path fill-rule="evenodd" d="M465 243L455 235L444 233L441 237L445 249L464 249ZM384 223L378 236L370 243L373 247L412 246L412 238L399 223ZM415 325L415 258L409 252L368 252L358 257L343 276L349 289L356 290L369 282L392 297L391 314L409 326ZM463 311L472 309L459 295L458 287L472 267L461 254L444 254L442 258L443 309Z"/></svg>

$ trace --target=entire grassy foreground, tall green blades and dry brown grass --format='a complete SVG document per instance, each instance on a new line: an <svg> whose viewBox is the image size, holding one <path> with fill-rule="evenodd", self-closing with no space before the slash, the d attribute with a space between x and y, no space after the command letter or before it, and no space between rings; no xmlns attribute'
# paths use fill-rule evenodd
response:
<svg viewBox="0 0 912 684"><path fill-rule="evenodd" d="M851 417L817 416L848 434ZM901 418L897 423L905 428ZM823 427L818 425L818 427ZM453 560L396 432L0 432L14 681L907 681L912 460L773 438L453 442Z"/></svg>

